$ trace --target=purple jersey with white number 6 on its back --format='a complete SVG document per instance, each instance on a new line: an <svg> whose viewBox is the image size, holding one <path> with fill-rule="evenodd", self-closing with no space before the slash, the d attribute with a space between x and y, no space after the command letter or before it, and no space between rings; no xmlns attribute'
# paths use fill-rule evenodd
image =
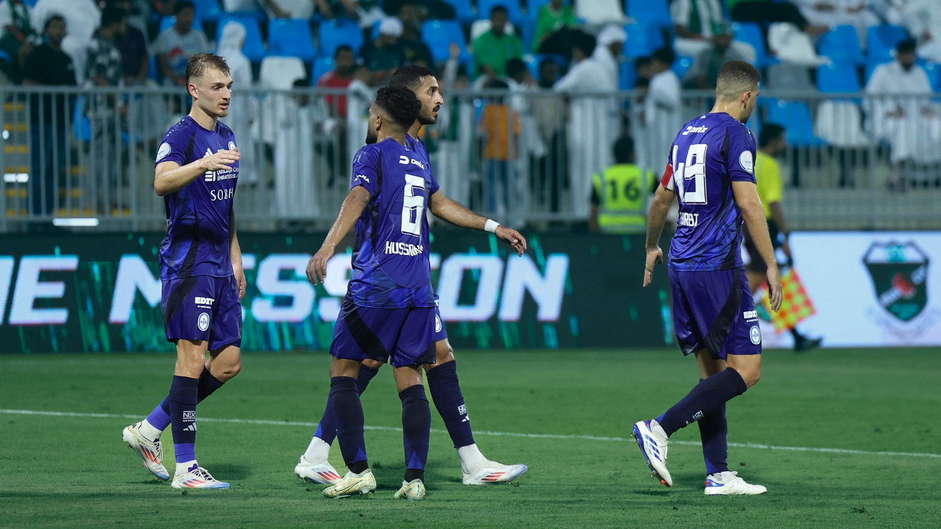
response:
<svg viewBox="0 0 941 529"><path fill-rule="evenodd" d="M371 198L356 224L347 299L379 309L434 307L425 210L439 186L427 157L391 138L367 145L353 159L350 188L357 186Z"/></svg>

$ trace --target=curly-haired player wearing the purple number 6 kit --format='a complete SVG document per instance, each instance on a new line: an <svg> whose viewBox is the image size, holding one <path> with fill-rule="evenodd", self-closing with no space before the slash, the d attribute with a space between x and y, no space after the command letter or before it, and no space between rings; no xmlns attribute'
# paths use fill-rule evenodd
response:
<svg viewBox="0 0 941 529"><path fill-rule="evenodd" d="M390 86L376 92L370 108L370 145L357 153L350 193L307 268L311 283L323 281L327 261L355 223L353 277L330 345L333 361L325 413L333 421L331 431L340 441L349 472L339 480L338 474L327 469L319 473L333 484L324 490L329 498L375 489L358 390L360 364L369 360L391 361L402 400L406 472L395 497L423 499L431 411L422 367L436 361L435 294L425 211L430 209L468 228L497 232L499 226L440 193L427 157L411 148L414 144L407 134L421 108L408 88ZM497 235L520 255L526 248L518 232L502 228Z"/></svg>

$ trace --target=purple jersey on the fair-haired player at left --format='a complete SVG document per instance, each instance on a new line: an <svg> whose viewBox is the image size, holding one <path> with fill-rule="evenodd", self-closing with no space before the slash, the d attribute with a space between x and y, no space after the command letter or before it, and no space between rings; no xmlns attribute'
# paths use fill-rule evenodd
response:
<svg viewBox="0 0 941 529"><path fill-rule="evenodd" d="M235 148L235 136L221 121L215 130L185 116L170 127L157 152L156 164L181 166ZM160 279L232 275L229 219L238 181L238 162L229 170L207 171L179 191L164 197L167 237L160 245Z"/></svg>

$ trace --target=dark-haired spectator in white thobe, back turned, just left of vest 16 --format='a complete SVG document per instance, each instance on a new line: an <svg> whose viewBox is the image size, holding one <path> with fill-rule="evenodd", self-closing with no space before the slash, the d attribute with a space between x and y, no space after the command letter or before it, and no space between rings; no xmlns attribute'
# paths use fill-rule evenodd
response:
<svg viewBox="0 0 941 529"><path fill-rule="evenodd" d="M595 39L583 33L572 48L573 64L566 75L555 84L555 89L569 96L568 178L571 183L572 213L588 218L591 202L592 174L611 165L609 98L606 91L611 76L605 66L592 57ZM610 87L609 87L610 88ZM607 90L610 91L610 90Z"/></svg>

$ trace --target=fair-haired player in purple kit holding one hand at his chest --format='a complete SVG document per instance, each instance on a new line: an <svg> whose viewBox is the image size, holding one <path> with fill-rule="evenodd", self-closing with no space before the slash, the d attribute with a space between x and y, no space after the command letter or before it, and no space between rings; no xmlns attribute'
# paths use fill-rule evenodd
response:
<svg viewBox="0 0 941 529"><path fill-rule="evenodd" d="M161 309L167 341L176 345L176 369L167 398L122 437L150 473L167 480L160 436L172 425L172 487L228 489L199 466L195 444L196 405L241 366L239 300L246 283L232 209L239 152L231 129L218 121L229 114L229 65L212 54L192 56L186 85L193 106L164 136L153 182L167 207Z"/></svg>

